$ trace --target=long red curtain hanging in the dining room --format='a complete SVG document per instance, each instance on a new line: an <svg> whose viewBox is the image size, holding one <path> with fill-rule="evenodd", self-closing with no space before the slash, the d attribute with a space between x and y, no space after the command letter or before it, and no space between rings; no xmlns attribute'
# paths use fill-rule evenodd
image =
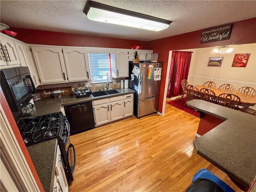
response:
<svg viewBox="0 0 256 192"><path fill-rule="evenodd" d="M172 51L171 68L168 80L167 97L182 94L181 81L188 80L188 70L191 61L191 51Z"/></svg>

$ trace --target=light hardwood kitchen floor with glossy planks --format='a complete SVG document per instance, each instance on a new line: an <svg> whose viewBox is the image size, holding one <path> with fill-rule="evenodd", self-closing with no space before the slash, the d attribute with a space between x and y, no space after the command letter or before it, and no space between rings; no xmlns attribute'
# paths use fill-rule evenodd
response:
<svg viewBox="0 0 256 192"><path fill-rule="evenodd" d="M70 192L182 192L202 168L241 192L196 154L199 120L166 104L164 116L131 117L70 136L76 149Z"/></svg>

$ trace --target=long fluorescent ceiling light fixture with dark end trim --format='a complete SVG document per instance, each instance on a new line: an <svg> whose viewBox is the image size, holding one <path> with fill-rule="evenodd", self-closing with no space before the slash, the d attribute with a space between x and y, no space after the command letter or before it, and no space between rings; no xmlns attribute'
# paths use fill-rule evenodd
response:
<svg viewBox="0 0 256 192"><path fill-rule="evenodd" d="M164 30L172 21L153 16L136 13L94 1L87 1L84 13L88 19L104 23L111 23L153 31Z"/></svg>

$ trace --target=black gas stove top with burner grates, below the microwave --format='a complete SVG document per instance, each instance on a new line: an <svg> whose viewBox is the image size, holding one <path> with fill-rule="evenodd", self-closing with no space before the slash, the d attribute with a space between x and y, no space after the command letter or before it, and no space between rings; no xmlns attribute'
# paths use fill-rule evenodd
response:
<svg viewBox="0 0 256 192"><path fill-rule="evenodd" d="M62 112L23 119L17 125L26 146L59 137L65 143L68 137Z"/></svg>

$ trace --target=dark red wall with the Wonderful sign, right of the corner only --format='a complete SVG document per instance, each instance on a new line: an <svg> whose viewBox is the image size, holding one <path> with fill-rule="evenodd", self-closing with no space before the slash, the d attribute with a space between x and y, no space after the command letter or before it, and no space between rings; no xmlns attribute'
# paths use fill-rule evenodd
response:
<svg viewBox="0 0 256 192"><path fill-rule="evenodd" d="M164 98L164 87L168 65L168 55L170 50L182 50L192 48L203 48L213 46L224 46L232 44L247 44L256 42L256 18L243 20L239 22L233 22L232 31L229 40L223 40L218 42L210 42L200 44L200 37L202 30L180 34L176 36L170 36L158 40L148 42L148 49L153 50L154 53L158 53L158 61L163 62L162 77L160 84L158 111L162 112L162 103ZM170 27L172 24L170 24ZM169 74L168 74L169 75Z"/></svg>

